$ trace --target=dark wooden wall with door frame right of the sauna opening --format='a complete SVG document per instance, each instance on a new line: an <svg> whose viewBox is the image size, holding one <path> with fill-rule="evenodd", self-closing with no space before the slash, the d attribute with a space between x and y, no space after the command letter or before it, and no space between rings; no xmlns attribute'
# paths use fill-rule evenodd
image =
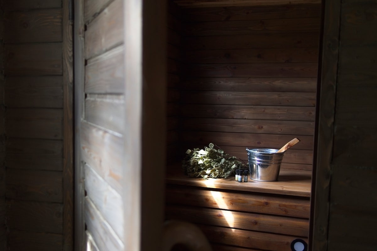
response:
<svg viewBox="0 0 377 251"><path fill-rule="evenodd" d="M313 250L375 250L377 5L326 2Z"/></svg>

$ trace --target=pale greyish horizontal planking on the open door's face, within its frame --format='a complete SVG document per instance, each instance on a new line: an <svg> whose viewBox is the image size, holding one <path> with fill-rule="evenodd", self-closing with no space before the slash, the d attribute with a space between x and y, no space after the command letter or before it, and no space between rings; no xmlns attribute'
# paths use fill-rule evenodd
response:
<svg viewBox="0 0 377 251"><path fill-rule="evenodd" d="M98 250L124 250L125 245L123 4L83 1L85 82L79 148L86 196L82 203L86 240Z"/></svg>

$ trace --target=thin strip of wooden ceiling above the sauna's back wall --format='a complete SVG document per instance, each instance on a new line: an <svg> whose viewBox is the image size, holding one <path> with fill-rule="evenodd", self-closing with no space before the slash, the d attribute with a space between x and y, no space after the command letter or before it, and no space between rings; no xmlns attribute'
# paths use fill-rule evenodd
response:
<svg viewBox="0 0 377 251"><path fill-rule="evenodd" d="M320 4L321 0L173 0L182 8Z"/></svg>

